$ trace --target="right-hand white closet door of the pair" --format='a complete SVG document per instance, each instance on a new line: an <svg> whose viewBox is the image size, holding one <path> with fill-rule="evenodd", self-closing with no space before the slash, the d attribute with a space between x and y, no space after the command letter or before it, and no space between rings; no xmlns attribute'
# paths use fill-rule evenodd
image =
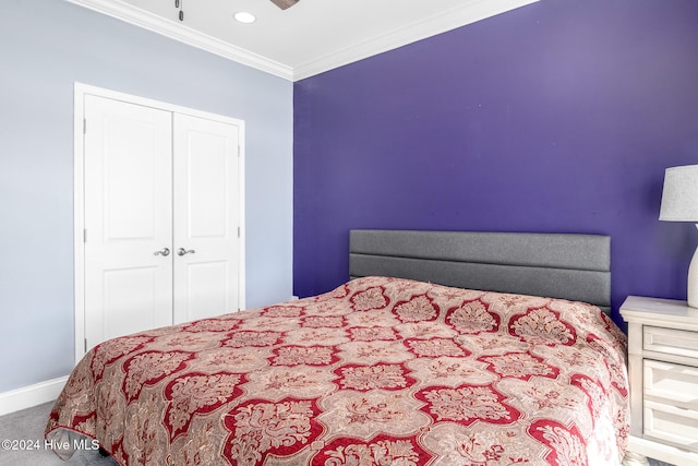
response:
<svg viewBox="0 0 698 466"><path fill-rule="evenodd" d="M174 113L174 323L238 310L240 128Z"/></svg>

